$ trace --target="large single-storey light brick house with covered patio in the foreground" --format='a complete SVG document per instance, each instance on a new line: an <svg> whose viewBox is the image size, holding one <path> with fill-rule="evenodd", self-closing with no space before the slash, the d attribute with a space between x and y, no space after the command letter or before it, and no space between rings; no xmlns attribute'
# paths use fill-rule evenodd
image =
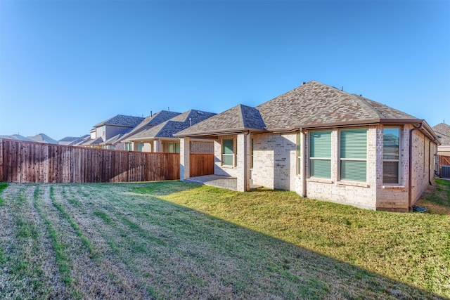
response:
<svg viewBox="0 0 450 300"><path fill-rule="evenodd" d="M437 136L417 119L316 81L237 105L176 133L181 180L192 138L214 139L214 174L366 209L408 211L432 182Z"/></svg>

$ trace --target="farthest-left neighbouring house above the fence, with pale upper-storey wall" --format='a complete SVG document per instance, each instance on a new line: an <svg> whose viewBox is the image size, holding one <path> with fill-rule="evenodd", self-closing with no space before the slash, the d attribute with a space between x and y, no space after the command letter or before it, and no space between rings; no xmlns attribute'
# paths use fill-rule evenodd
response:
<svg viewBox="0 0 450 300"><path fill-rule="evenodd" d="M91 138L80 144L84 147L102 148L101 144L120 133L133 129L143 121L143 117L132 117L117 115L101 123L94 125L94 129L89 131Z"/></svg>

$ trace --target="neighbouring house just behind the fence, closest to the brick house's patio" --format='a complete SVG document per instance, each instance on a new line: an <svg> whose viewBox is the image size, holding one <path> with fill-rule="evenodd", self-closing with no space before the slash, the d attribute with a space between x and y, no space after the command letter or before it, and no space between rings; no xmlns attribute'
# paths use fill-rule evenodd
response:
<svg viewBox="0 0 450 300"><path fill-rule="evenodd" d="M213 112L203 112L201 110L188 110L187 112L177 115L161 124L145 129L129 136L124 142L132 143L133 150L144 152L180 152L179 138L174 136L175 133L186 129L190 126L198 124L212 116ZM191 152L193 153L212 153L214 145L212 141L200 140L191 141Z"/></svg>

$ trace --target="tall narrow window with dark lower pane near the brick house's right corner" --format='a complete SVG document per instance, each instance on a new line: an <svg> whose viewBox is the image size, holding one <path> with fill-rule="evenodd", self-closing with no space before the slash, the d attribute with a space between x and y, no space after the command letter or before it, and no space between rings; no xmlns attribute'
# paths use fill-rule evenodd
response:
<svg viewBox="0 0 450 300"><path fill-rule="evenodd" d="M400 129L383 129L383 183L399 184Z"/></svg>

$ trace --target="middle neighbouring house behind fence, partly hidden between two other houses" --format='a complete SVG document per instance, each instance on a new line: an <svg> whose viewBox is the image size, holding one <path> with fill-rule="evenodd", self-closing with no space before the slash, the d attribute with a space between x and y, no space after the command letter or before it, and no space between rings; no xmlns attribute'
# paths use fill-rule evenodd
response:
<svg viewBox="0 0 450 300"><path fill-rule="evenodd" d="M122 141L125 141L129 136L133 136L134 134L139 133L143 130L150 129L151 127L172 119L177 115L180 115L180 112L169 112L168 110L161 110L160 112L156 112L155 114L153 114L153 112L150 112L150 116L143 119L140 124L125 131L124 133L119 133L117 134L117 136L113 136L112 138L104 141L103 143L101 143L101 146L105 149L134 150L132 143L122 143ZM136 147L136 150L137 149L138 148Z"/></svg>

